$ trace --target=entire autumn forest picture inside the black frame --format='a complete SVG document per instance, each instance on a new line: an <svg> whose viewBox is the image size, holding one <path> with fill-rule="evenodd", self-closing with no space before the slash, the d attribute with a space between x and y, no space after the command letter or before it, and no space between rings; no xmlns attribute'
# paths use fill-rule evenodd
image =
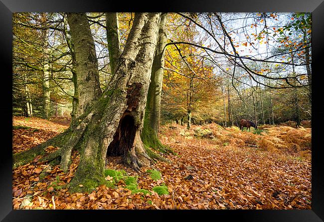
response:
<svg viewBox="0 0 324 222"><path fill-rule="evenodd" d="M12 13L14 210L312 209L312 13Z"/></svg>

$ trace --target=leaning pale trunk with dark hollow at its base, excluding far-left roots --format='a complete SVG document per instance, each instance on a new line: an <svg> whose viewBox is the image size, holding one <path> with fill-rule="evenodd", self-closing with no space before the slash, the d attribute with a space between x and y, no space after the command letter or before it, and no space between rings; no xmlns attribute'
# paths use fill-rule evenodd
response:
<svg viewBox="0 0 324 222"><path fill-rule="evenodd" d="M120 56L116 73L88 114L80 164L71 191L92 190L105 183L106 155L121 155L136 170L150 165L140 138L161 13L139 13ZM91 174L89 174L91 172ZM83 186L78 186L82 184Z"/></svg>

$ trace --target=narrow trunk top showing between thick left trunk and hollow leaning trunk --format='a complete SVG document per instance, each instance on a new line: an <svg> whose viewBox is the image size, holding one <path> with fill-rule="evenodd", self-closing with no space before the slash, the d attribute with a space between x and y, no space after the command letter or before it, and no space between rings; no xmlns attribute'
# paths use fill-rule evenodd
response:
<svg viewBox="0 0 324 222"><path fill-rule="evenodd" d="M118 13L106 12L106 27L110 69L113 76L115 74L117 60L122 54L119 38Z"/></svg>

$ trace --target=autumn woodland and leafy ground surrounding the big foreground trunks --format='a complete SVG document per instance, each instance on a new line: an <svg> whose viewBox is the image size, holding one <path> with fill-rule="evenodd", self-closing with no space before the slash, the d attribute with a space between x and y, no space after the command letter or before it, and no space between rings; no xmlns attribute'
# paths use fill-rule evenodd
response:
<svg viewBox="0 0 324 222"><path fill-rule="evenodd" d="M121 50L134 18L118 13ZM106 14L87 20L105 90ZM82 152L73 150L68 170L36 156L13 169L14 209L311 209L311 14L168 13L165 30L159 139L172 151L152 152L166 161L134 171L107 156L111 187L70 192ZM66 13L13 13L12 66L17 154L75 119ZM241 119L258 128L240 131Z"/></svg>

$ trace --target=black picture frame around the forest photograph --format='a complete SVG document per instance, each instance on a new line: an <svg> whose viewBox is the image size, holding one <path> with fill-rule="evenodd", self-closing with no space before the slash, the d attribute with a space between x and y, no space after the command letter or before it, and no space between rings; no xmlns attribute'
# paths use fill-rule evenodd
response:
<svg viewBox="0 0 324 222"><path fill-rule="evenodd" d="M12 210L12 13L13 12L91 12L91 11L161 11L161 12L312 12L312 210L188 210L188 211L87 211L87 210ZM163 0L118 2L116 0L0 0L0 55L1 98L0 120L0 220L3 221L82 221L125 220L125 217L143 217L149 220L190 219L193 215L202 220L230 220L249 222L323 222L324 221L324 161L321 155L324 126L321 104L324 77L321 71L324 53L324 2L323 0ZM161 215L161 217L160 217ZM113 218L112 218L113 216ZM115 218L117 217L117 218ZM135 219L135 218L134 218ZM131 220L134 220L131 219ZM138 218L141 220L141 218ZM195 219L197 220L197 219Z"/></svg>

